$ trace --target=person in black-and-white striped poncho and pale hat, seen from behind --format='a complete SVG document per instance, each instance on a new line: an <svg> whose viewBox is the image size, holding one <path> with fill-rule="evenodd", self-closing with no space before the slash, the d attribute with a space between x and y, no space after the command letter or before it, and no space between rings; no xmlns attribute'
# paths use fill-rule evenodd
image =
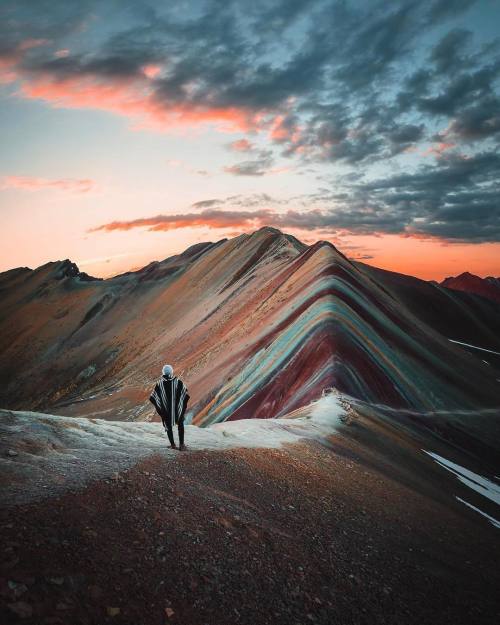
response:
<svg viewBox="0 0 500 625"><path fill-rule="evenodd" d="M184 414L186 412L189 394L184 382L174 375L171 365L164 365L162 377L155 384L154 390L149 397L149 401L156 408L160 415L163 427L165 428L170 447L177 449L174 441L174 425L177 425L179 432L179 449L184 451Z"/></svg>

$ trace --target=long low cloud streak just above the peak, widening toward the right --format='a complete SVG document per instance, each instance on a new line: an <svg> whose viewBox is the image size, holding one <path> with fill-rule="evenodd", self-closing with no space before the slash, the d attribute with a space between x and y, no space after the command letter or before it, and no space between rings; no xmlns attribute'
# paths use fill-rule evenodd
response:
<svg viewBox="0 0 500 625"><path fill-rule="evenodd" d="M217 200L224 210L206 208L197 213L117 221L93 231L275 226L331 236L380 233L449 242L498 242L499 167L500 154L496 152L474 157L443 152L436 165L424 164L414 173L355 181L344 192L325 189L288 199L265 194L229 196ZM204 202L215 201L202 200L196 205ZM296 208L303 205L309 208ZM288 206L286 210L284 206Z"/></svg>

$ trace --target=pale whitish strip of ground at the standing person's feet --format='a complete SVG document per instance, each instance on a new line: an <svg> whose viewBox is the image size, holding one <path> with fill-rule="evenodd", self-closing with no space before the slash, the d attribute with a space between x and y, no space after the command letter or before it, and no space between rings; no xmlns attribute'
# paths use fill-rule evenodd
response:
<svg viewBox="0 0 500 625"><path fill-rule="evenodd" d="M327 395L288 418L187 425L186 444L190 450L224 450L321 440L335 431L343 414L339 397ZM0 499L6 504L38 500L112 477L152 454L173 458L178 453L170 449L161 423L2 410Z"/></svg>

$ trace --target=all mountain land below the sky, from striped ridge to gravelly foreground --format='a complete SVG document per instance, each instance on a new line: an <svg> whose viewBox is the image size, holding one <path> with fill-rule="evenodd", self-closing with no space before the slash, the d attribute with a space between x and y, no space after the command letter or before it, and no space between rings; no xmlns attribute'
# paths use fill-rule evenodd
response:
<svg viewBox="0 0 500 625"><path fill-rule="evenodd" d="M0 619L496 622L499 405L500 304L325 241L0 274Z"/></svg>

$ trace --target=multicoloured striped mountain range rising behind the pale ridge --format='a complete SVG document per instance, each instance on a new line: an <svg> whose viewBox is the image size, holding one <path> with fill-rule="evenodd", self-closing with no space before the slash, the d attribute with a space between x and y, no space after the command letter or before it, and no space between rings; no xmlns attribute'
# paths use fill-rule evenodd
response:
<svg viewBox="0 0 500 625"><path fill-rule="evenodd" d="M455 411L454 428L460 411L499 403L497 304L274 228L107 280L69 260L19 268L0 289L5 408L156 419L148 396L165 362L198 425L279 417L331 387L391 410ZM490 444L487 429L475 435Z"/></svg>

